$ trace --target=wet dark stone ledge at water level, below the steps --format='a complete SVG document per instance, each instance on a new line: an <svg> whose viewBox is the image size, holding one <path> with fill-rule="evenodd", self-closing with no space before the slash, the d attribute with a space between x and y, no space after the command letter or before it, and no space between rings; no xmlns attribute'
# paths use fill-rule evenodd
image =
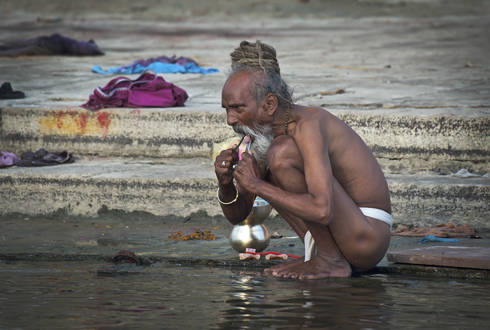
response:
<svg viewBox="0 0 490 330"><path fill-rule="evenodd" d="M120 219L123 220L123 219ZM0 240L0 259L4 260L42 260L58 261L100 261L100 272L117 274L131 271L144 272L145 267L155 264L198 265L211 267L253 268L255 271L277 264L281 261L240 260L229 243L232 226L221 219L219 224L210 226L206 220L193 220L191 224L174 219L165 224L157 222L128 223L123 221L98 222L65 221L61 219L10 219L2 220ZM277 231L285 236L272 238L266 252L303 255L304 245L295 233L280 218L267 219L270 232ZM209 229L216 240L167 241L167 238L180 231L192 233L196 228ZM296 236L296 238L294 238ZM392 236L388 252L410 250L430 246L457 246L490 248L488 235L481 239L460 238L456 243L418 243L417 237ZM291 238L288 238L291 237ZM112 264L112 258L122 250L134 252L143 266L132 264ZM429 277L490 278L488 270L463 269L455 267L433 267L407 265L388 262L386 257L368 274L408 274ZM358 276L354 274L353 276Z"/></svg>

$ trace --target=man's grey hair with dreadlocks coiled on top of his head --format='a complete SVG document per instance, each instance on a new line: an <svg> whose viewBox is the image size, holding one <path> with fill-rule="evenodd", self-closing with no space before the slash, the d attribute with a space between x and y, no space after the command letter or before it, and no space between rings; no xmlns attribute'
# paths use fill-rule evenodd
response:
<svg viewBox="0 0 490 330"><path fill-rule="evenodd" d="M255 96L255 102L264 101L269 93L277 97L281 106L294 102L291 89L281 77L276 51L271 46L260 40L255 43L242 41L230 56L231 71L228 77L246 71L250 75L250 93Z"/></svg>

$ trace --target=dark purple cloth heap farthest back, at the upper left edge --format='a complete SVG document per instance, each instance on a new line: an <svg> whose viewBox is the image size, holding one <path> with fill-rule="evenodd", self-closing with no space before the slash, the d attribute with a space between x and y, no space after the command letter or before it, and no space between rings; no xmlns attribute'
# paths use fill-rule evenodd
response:
<svg viewBox="0 0 490 330"><path fill-rule="evenodd" d="M76 41L54 33L0 45L0 56L21 55L103 55L94 40Z"/></svg>

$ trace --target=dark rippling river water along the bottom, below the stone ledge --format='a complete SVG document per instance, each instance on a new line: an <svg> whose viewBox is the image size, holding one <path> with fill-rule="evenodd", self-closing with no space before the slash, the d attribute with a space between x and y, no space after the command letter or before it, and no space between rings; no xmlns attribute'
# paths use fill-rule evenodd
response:
<svg viewBox="0 0 490 330"><path fill-rule="evenodd" d="M0 261L0 329L488 329L490 281Z"/></svg>

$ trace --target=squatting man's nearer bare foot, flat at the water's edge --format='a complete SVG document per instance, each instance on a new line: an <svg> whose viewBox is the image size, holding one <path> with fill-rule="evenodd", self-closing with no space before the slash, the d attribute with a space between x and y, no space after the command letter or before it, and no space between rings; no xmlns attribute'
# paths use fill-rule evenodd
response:
<svg viewBox="0 0 490 330"><path fill-rule="evenodd" d="M292 279L322 279L327 277L350 277L352 269L342 256L337 260L321 257L318 254L301 264L272 272L273 276Z"/></svg>

